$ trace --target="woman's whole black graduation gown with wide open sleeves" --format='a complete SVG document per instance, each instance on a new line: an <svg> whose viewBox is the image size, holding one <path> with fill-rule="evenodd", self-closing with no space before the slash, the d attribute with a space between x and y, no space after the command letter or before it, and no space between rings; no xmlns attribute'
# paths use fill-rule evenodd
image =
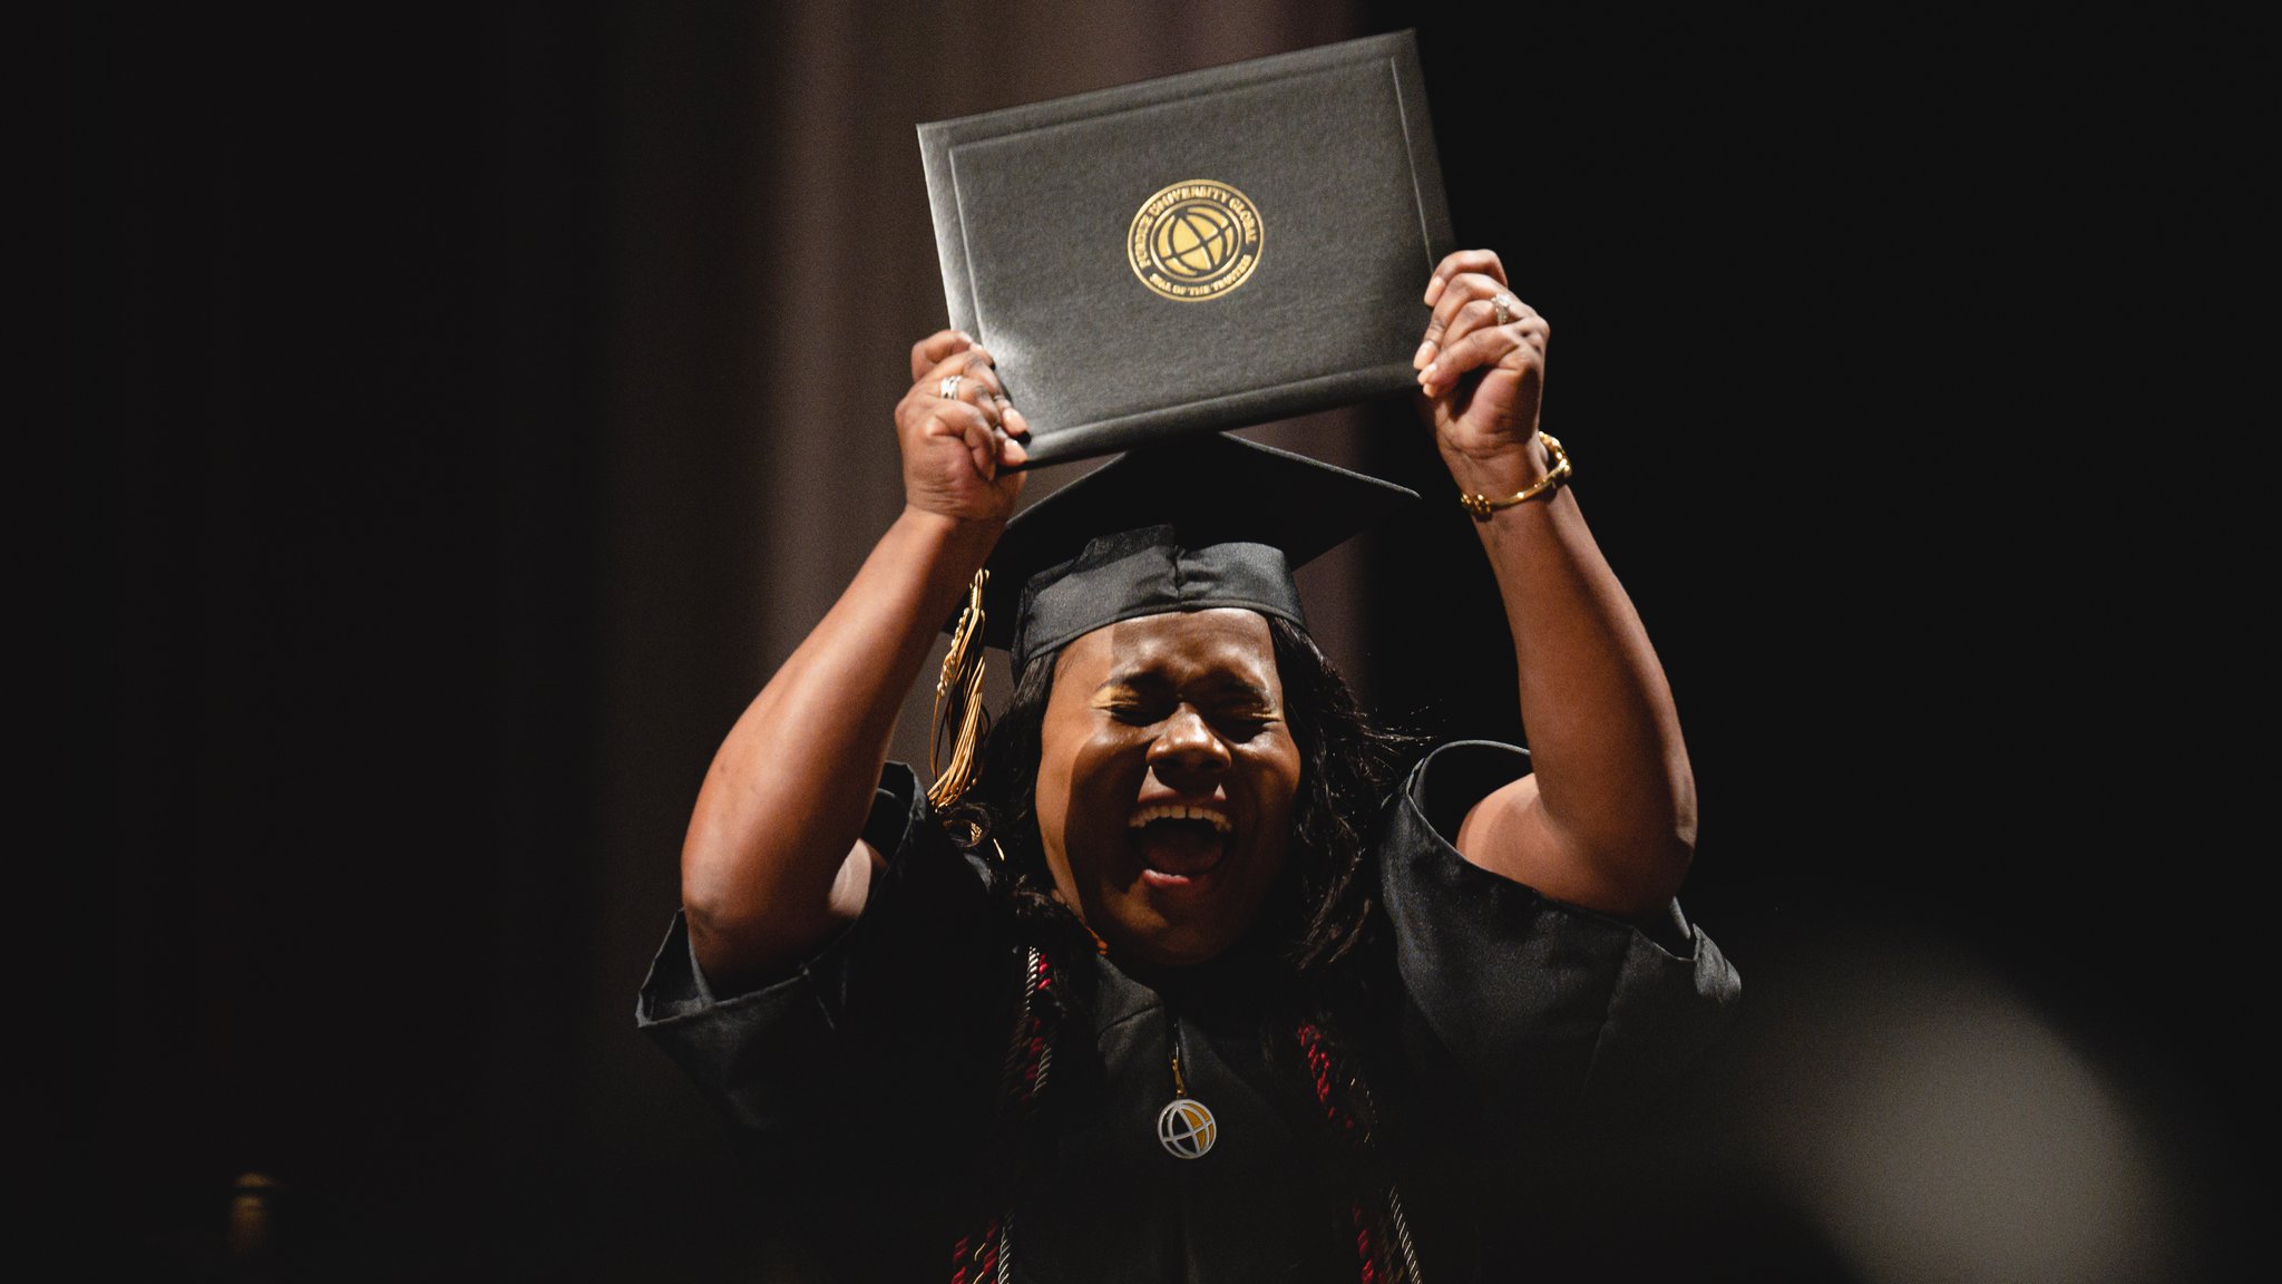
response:
<svg viewBox="0 0 2282 1284"><path fill-rule="evenodd" d="M1456 743L1387 802L1376 843L1394 944L1392 1012L1362 1049L1424 1279L1479 1277L1511 1181L1684 1072L1737 996L1737 973L1673 905L1629 923L1547 900L1458 857L1458 820L1527 772L1506 745ZM637 1019L751 1145L764 1183L812 1195L828 1261L851 1279L949 1279L952 1243L1011 1211L1015 1279L1353 1279L1358 1156L1298 1069L1271 966L1237 948L1200 969L1130 973L1077 950L1070 1021L1041 1115L1000 1122L1022 946L993 870L926 818L890 763L865 838L892 852L865 914L785 980L714 994L675 916ZM1267 1030L1267 1037L1264 1037ZM1157 1138L1180 1046L1216 1140L1175 1158ZM1091 1046L1089 1046L1091 1044ZM984 1156L1009 1156L990 1167ZM1011 1172L1011 1195L993 1186Z"/></svg>

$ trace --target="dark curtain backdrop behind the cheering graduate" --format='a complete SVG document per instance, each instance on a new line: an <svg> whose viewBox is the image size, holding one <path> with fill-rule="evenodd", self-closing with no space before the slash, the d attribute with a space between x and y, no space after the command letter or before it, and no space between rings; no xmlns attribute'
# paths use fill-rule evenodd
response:
<svg viewBox="0 0 2282 1284"><path fill-rule="evenodd" d="M2271 560L2170 430L2259 356L2207 286L2239 34L1362 0L82 16L103 1243L806 1277L632 992L712 747L899 505L913 126L1403 25L1460 242L1554 322L1748 980L1540 1266L2236 1270ZM1257 434L1433 498L1303 576L1374 706L1522 736L1408 407Z"/></svg>

